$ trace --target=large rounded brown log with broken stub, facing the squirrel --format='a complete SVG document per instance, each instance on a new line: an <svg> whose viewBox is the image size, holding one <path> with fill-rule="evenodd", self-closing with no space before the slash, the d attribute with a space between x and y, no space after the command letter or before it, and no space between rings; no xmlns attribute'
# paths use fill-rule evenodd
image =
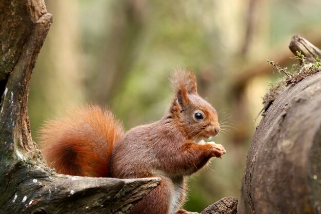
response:
<svg viewBox="0 0 321 214"><path fill-rule="evenodd" d="M291 47L313 61L305 50L315 47L298 43ZM321 213L320 106L320 68L277 95L251 143L239 213Z"/></svg>

